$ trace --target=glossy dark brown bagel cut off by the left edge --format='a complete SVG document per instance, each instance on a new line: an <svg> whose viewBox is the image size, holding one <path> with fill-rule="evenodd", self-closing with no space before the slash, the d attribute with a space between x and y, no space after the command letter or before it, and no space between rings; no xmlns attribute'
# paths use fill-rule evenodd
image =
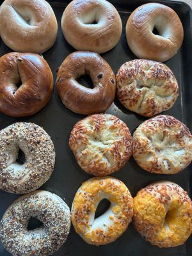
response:
<svg viewBox="0 0 192 256"><path fill-rule="evenodd" d="M5 54L0 58L0 74L0 111L6 115L33 115L51 98L52 72L38 54Z"/></svg>

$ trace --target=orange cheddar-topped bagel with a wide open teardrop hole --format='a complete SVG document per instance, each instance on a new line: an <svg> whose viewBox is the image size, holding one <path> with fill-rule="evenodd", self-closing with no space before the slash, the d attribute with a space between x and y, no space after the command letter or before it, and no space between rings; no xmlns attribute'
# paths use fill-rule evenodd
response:
<svg viewBox="0 0 192 256"><path fill-rule="evenodd" d="M97 205L107 198L108 211L94 220ZM108 244L125 232L133 215L132 196L125 184L112 177L97 177L83 182L72 203L74 228L88 244Z"/></svg>

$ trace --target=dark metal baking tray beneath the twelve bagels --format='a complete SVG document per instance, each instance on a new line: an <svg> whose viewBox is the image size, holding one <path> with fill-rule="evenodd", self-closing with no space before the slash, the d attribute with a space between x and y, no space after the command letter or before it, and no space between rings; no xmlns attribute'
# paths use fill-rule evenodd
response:
<svg viewBox="0 0 192 256"><path fill-rule="evenodd" d="M0 1L0 3L2 2L3 1ZM61 15L65 6L67 6L69 2L70 1L49 1L58 19L59 30L56 43L43 55L51 67L54 75L54 81L56 80L56 69L68 54L75 51L65 41L60 26ZM125 63L125 61L136 58L136 56L134 56L134 54L129 50L125 40L125 24L127 22L127 18L136 7L143 3L149 3L150 1L115 0L110 2L113 3L119 11L124 29L118 45L116 45L116 47L111 51L101 55L106 61L108 61L109 65L111 65L111 68L113 68L113 71L116 73L118 68ZM175 10L179 15L184 26L184 43L182 44L180 51L173 56L171 60L166 61L166 65L173 70L173 73L179 82L179 98L175 102L173 108L165 111L164 114L178 118L184 122L184 124L188 125L190 130L192 130L192 11L191 8L184 3L175 1L161 1L161 3L173 8L173 10ZM6 47L2 40L0 40L1 56L10 51L12 50ZM118 102L117 99L115 99L115 102L106 112L116 115L123 120L129 127L131 134L135 131L136 127L141 124L141 122L147 119L128 111L120 104L120 102ZM34 122L35 124L44 127L45 131L47 131L51 136L56 150L56 164L54 172L51 175L51 179L49 179L41 189L51 191L52 193L56 193L61 196L61 198L65 199L65 202L67 202L69 207L71 207L74 195L76 194L79 186L81 186L81 183L91 177L91 175L88 175L81 170L74 155L68 147L70 131L73 125L82 118L84 118L83 115L73 113L63 106L56 92L56 86L54 86L54 93L52 94L51 100L47 106L45 106L42 111L36 113L36 115L26 118L12 118L0 113L0 129L3 129L15 122ZM172 180L188 191L191 196L192 170L190 172L190 168L191 166L176 175L157 175L141 170L141 168L135 163L134 159L131 158L122 170L113 173L111 176L122 180L131 191L132 196L135 196L138 190L155 180ZM0 219L8 206L18 197L19 195L0 191ZM106 209L106 205L101 205L100 212L104 211L104 209ZM10 253L3 248L1 242L0 255L10 255ZM143 237L141 237L140 234L132 227L132 224L130 224L127 231L114 243L105 246L92 246L86 244L83 239L76 234L74 228L71 227L67 242L63 244L60 250L54 253L54 255L189 256L192 255L192 239L189 238L182 246L160 249L145 241L145 239L143 239Z"/></svg>

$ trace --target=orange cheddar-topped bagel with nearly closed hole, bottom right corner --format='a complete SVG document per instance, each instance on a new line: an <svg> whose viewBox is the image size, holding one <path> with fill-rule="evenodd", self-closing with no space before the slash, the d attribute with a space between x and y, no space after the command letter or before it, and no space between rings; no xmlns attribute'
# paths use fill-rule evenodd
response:
<svg viewBox="0 0 192 256"><path fill-rule="evenodd" d="M192 233L191 199L173 182L154 182L141 189L134 198L132 221L151 244L179 246Z"/></svg>

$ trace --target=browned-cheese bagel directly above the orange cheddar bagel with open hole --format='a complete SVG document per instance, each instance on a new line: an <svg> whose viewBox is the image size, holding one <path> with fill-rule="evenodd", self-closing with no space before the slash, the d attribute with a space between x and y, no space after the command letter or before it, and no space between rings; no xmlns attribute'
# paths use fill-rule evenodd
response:
<svg viewBox="0 0 192 256"><path fill-rule="evenodd" d="M132 154L127 125L109 114L91 115L74 125L69 145L81 168L95 176L118 171Z"/></svg>

